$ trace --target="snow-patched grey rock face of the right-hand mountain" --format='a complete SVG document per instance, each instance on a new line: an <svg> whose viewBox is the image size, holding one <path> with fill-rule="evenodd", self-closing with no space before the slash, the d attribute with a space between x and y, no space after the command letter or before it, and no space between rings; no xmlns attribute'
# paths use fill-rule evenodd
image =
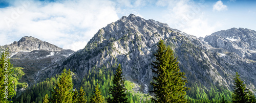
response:
<svg viewBox="0 0 256 103"><path fill-rule="evenodd" d="M238 72L247 87L256 85L256 31L232 28L206 36L204 41L212 47L219 65L228 75Z"/></svg>

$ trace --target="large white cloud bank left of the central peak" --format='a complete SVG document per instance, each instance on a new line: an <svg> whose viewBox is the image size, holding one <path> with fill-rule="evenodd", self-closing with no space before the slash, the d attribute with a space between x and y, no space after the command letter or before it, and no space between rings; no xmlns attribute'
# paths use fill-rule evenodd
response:
<svg viewBox="0 0 256 103"><path fill-rule="evenodd" d="M33 36L78 50L118 16L112 1L15 1L11 7L0 8L0 19L0 45Z"/></svg>

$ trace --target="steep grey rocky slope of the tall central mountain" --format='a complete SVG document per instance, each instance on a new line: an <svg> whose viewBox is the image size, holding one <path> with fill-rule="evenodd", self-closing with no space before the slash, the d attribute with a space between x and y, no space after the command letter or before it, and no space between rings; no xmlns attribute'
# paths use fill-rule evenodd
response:
<svg viewBox="0 0 256 103"><path fill-rule="evenodd" d="M230 69L219 62L216 52L211 49L214 47L169 28L165 23L145 20L133 14L100 29L87 46L65 61L58 71L64 67L72 68L83 78L92 68L121 64L125 79L140 84L144 93L148 93L148 89L152 89L150 82L154 75L151 70L151 63L155 60L153 54L161 39L174 49L180 69L189 81L187 86L196 83L202 84L206 90L212 85L232 89L235 71L229 72Z"/></svg>

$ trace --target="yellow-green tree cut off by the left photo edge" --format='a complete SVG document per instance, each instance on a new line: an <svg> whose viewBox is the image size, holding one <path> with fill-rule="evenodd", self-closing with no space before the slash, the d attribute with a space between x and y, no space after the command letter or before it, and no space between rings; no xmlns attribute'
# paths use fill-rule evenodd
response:
<svg viewBox="0 0 256 103"><path fill-rule="evenodd" d="M16 94L14 81L11 78L11 68L9 51L6 48L0 58L0 102L12 102L8 99L11 99Z"/></svg>

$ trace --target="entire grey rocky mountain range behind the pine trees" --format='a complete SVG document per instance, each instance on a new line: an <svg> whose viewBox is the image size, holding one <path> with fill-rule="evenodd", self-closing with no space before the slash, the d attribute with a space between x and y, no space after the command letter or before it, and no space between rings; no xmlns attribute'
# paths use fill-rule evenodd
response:
<svg viewBox="0 0 256 103"><path fill-rule="evenodd" d="M238 72L247 87L255 92L255 37L253 30L232 28L197 38L165 23L130 14L100 29L86 47L76 53L33 37L24 37L0 48L10 48L11 62L25 69L26 75L20 80L28 81L29 85L50 78L64 68L77 75L79 84L90 70L121 64L125 79L148 93L152 90L150 82L154 75L153 54L162 39L174 50L181 71L186 73L186 86L191 89L199 87L205 90L203 93L209 93L212 88L220 93L232 90L233 75ZM187 93L198 99L192 92Z"/></svg>

